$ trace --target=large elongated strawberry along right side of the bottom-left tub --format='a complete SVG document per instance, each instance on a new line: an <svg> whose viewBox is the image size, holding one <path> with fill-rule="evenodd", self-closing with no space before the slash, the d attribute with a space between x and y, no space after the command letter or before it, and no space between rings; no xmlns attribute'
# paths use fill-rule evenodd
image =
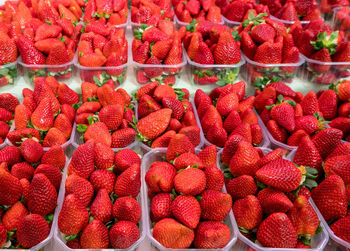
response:
<svg viewBox="0 0 350 251"><path fill-rule="evenodd" d="M45 216L56 208L56 204L57 192L55 187L44 174L35 174L30 184L29 211Z"/></svg>

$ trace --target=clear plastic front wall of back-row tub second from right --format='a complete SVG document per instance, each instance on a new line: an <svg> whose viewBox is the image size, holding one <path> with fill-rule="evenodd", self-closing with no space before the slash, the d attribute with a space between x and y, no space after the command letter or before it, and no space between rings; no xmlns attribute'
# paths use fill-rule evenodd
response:
<svg viewBox="0 0 350 251"><path fill-rule="evenodd" d="M293 79L299 75L301 71L301 65L305 62L304 58L300 55L298 63L288 63L288 64L262 64L250 60L246 55L244 55L247 61L246 65L243 67L243 78L251 84L254 84L255 78L267 77L272 79L272 77L279 77L284 83L291 83Z"/></svg>

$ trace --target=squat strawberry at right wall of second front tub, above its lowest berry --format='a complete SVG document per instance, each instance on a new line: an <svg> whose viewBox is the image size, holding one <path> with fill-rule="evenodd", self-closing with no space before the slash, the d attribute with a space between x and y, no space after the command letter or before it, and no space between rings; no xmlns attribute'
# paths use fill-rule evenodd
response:
<svg viewBox="0 0 350 251"><path fill-rule="evenodd" d="M121 197L113 205L113 217L137 224L141 219L141 206L134 198Z"/></svg>

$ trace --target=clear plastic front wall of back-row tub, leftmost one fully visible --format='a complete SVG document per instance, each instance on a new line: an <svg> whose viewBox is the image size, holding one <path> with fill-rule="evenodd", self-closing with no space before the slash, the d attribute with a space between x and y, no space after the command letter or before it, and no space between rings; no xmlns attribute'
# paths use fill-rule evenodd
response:
<svg viewBox="0 0 350 251"><path fill-rule="evenodd" d="M62 65L32 65L22 62L22 58L18 58L18 64L22 67L24 80L34 85L35 77L53 76L57 81L71 84L74 78L73 61Z"/></svg>

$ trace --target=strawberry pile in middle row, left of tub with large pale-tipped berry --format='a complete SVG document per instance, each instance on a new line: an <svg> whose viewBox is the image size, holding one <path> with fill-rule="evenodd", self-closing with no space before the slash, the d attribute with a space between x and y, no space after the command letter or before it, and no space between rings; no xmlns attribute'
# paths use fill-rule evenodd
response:
<svg viewBox="0 0 350 251"><path fill-rule="evenodd" d="M112 82L112 81L111 81ZM110 83L111 83L110 82ZM113 83L102 87L84 82L81 85L83 103L78 106L75 122L84 133L85 141L104 143L108 147L123 148L135 140L131 97L124 89L113 89Z"/></svg>

